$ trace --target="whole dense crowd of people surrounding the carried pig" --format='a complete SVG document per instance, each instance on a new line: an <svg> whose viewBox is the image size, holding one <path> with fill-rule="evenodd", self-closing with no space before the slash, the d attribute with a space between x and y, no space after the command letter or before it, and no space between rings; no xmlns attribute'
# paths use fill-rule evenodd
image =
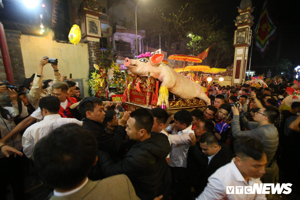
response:
<svg viewBox="0 0 300 200"><path fill-rule="evenodd" d="M26 165L52 190L51 200L266 199L226 194L226 186L276 183L275 166L298 184L300 102L278 110L287 81L259 89L213 84L211 105L201 109L169 116L138 108L118 118L121 102L80 98L58 65L54 79L43 82L46 64L41 59L22 92L0 86L12 104L0 107L0 199L8 185L15 200L26 199Z"/></svg>

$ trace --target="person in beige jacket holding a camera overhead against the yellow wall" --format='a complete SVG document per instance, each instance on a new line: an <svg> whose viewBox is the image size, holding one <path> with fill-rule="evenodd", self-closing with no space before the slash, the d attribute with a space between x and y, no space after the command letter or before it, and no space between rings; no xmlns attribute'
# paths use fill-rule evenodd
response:
<svg viewBox="0 0 300 200"><path fill-rule="evenodd" d="M27 95L28 102L34 107L35 109L38 108L38 103L41 98L49 96L52 94L51 86L49 88L43 89L43 68L46 64L48 64L48 58L43 57L41 59L40 65L38 66L38 70L35 74L32 74L30 78L26 78L24 80L24 87L30 90L29 94ZM59 82L61 75L58 72L58 65L51 64L53 71L54 71L54 79L53 83Z"/></svg>

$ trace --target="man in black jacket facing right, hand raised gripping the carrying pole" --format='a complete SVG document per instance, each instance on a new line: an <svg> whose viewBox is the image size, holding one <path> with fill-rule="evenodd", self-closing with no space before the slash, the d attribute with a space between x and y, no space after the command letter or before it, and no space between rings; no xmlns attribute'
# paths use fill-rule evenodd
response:
<svg viewBox="0 0 300 200"><path fill-rule="evenodd" d="M105 118L104 106L102 100L97 97L87 97L79 103L79 113L85 117L82 123L82 128L91 131L98 142L98 150L104 150L110 153L115 162L120 161L118 151L122 141L126 136L125 123L129 118L129 113L125 112L123 117L118 120L118 127L114 136L108 134L104 129L106 126L102 124ZM101 169L98 163L89 174L92 180L103 178Z"/></svg>

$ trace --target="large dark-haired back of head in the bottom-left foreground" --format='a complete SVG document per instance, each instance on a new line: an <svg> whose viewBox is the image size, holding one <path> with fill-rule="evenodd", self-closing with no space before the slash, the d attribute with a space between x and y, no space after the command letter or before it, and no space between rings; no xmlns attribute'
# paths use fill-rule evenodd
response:
<svg viewBox="0 0 300 200"><path fill-rule="evenodd" d="M97 152L94 134L75 123L68 123L35 144L35 171L46 185L71 189L88 176Z"/></svg>

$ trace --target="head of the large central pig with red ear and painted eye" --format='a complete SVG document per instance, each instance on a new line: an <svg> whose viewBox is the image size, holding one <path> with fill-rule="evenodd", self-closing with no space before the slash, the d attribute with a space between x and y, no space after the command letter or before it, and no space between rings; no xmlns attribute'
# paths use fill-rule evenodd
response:
<svg viewBox="0 0 300 200"><path fill-rule="evenodd" d="M151 56L151 54L149 55L146 53L146 56ZM138 56L138 59L125 58L124 65L136 76L148 76L148 71L152 72L154 67L158 67L163 58L164 54L159 53L156 53L151 57Z"/></svg>

